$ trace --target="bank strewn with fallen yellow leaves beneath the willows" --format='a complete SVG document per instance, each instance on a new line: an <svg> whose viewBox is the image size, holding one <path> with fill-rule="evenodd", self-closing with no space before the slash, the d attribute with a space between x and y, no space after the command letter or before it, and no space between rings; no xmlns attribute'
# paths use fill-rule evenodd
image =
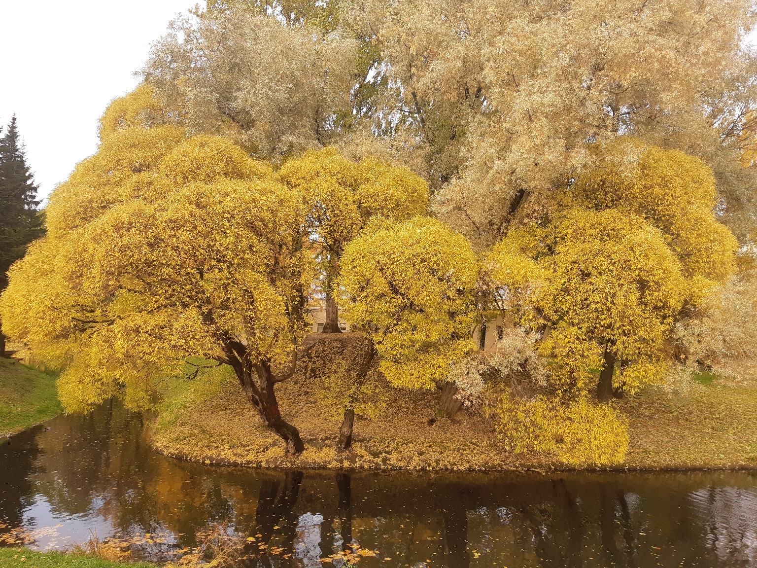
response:
<svg viewBox="0 0 757 568"><path fill-rule="evenodd" d="M347 353L347 348L336 349ZM372 420L358 417L350 451L335 448L341 415L321 398L329 380L310 369L277 385L283 416L300 429L306 450L285 457L282 443L260 425L228 370L213 370L174 392L154 429L165 454L203 463L252 467L350 467L408 470L549 469L548 456L509 453L481 415L435 415L436 392L392 389L372 373ZM757 467L757 389L718 381L694 384L685 395L647 389L618 401L630 424L621 468Z"/></svg>

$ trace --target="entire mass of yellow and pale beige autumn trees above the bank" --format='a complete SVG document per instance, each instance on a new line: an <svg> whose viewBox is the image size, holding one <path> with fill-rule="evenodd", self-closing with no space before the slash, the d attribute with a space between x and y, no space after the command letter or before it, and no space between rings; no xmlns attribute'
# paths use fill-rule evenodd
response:
<svg viewBox="0 0 757 568"><path fill-rule="evenodd" d="M365 346L313 395L341 450L375 366L508 451L619 463L616 399L752 368L748 5L195 8L51 195L3 330L68 410L228 365L296 455L276 385L326 352L322 302Z"/></svg>

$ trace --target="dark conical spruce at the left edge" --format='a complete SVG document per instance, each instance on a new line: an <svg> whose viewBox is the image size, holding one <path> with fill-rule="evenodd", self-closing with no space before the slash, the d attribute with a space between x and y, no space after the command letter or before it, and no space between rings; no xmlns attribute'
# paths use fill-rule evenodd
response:
<svg viewBox="0 0 757 568"><path fill-rule="evenodd" d="M16 117L5 133L0 129L0 292L8 286L8 268L23 257L26 247L42 236L42 214L37 209L34 176L20 145ZM0 329L0 356L5 355L5 335Z"/></svg>

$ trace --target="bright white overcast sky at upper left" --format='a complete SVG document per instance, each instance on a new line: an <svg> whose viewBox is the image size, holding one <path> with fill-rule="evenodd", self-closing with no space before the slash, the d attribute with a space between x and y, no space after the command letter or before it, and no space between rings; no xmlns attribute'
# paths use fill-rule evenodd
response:
<svg viewBox="0 0 757 568"><path fill-rule="evenodd" d="M198 0L0 0L0 124L12 114L40 195L94 154L108 102ZM204 2L202 2L204 5Z"/></svg>

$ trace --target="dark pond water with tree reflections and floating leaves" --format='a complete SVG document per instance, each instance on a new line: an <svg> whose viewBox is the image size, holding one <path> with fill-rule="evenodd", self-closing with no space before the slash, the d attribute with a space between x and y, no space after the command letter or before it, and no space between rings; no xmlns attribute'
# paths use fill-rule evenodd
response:
<svg viewBox="0 0 757 568"><path fill-rule="evenodd" d="M378 551L361 560L366 568L757 566L752 473L204 467L155 454L142 417L113 405L0 445L0 518L0 532L26 527L40 549L83 543L95 529L100 538L147 533L132 551L154 561L218 522L256 538L245 566L332 566L320 559L345 543Z"/></svg>

